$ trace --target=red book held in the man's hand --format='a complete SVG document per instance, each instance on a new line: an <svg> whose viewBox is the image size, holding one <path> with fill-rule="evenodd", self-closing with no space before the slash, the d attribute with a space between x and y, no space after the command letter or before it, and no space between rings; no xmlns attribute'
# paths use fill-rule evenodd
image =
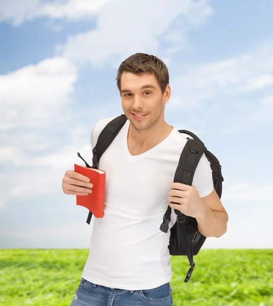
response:
<svg viewBox="0 0 273 306"><path fill-rule="evenodd" d="M89 177L90 183L93 184L92 193L76 195L76 204L86 207L96 218L102 218L104 215L106 172L77 164L74 164L74 171Z"/></svg>

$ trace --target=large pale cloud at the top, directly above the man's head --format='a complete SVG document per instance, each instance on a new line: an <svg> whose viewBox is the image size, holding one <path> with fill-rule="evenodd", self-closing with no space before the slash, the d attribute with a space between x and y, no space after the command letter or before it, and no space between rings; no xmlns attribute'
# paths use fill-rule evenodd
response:
<svg viewBox="0 0 273 306"><path fill-rule="evenodd" d="M113 62L119 65L137 52L157 54L161 42L176 47L177 52L185 47L188 32L211 14L205 0L169 0L160 5L157 0L113 1L100 11L95 30L70 36L57 52L71 61L88 62L94 67Z"/></svg>

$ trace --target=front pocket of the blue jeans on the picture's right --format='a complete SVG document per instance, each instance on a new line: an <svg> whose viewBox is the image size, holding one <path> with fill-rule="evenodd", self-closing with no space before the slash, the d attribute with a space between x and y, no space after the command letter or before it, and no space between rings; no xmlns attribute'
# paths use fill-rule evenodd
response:
<svg viewBox="0 0 273 306"><path fill-rule="evenodd" d="M153 289L139 290L139 297L150 304L163 304L169 301L171 296L170 283L166 283Z"/></svg>

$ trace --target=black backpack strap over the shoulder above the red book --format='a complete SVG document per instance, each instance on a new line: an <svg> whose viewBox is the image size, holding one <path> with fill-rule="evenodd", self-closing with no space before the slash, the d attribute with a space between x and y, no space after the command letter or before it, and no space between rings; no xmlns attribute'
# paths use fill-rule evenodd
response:
<svg viewBox="0 0 273 306"><path fill-rule="evenodd" d="M111 144L111 142L115 139L115 137L118 135L126 120L127 117L125 116L125 114L121 114L120 116L116 117L105 125L98 137L98 141L95 147L93 148L93 166L91 168L98 169L98 164L101 156ZM92 212L89 211L86 223L90 224L92 215Z"/></svg>

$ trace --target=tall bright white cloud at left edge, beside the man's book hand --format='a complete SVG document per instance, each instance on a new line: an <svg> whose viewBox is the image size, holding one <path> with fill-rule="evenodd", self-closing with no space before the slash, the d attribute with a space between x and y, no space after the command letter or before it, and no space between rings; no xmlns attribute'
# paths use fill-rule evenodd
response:
<svg viewBox="0 0 273 306"><path fill-rule="evenodd" d="M59 139L54 135L70 117L67 106L77 78L75 66L60 57L0 75L1 207L14 197L60 189L56 168L65 163L64 155L60 152L51 168L41 156L49 156L48 151L58 147Z"/></svg>

